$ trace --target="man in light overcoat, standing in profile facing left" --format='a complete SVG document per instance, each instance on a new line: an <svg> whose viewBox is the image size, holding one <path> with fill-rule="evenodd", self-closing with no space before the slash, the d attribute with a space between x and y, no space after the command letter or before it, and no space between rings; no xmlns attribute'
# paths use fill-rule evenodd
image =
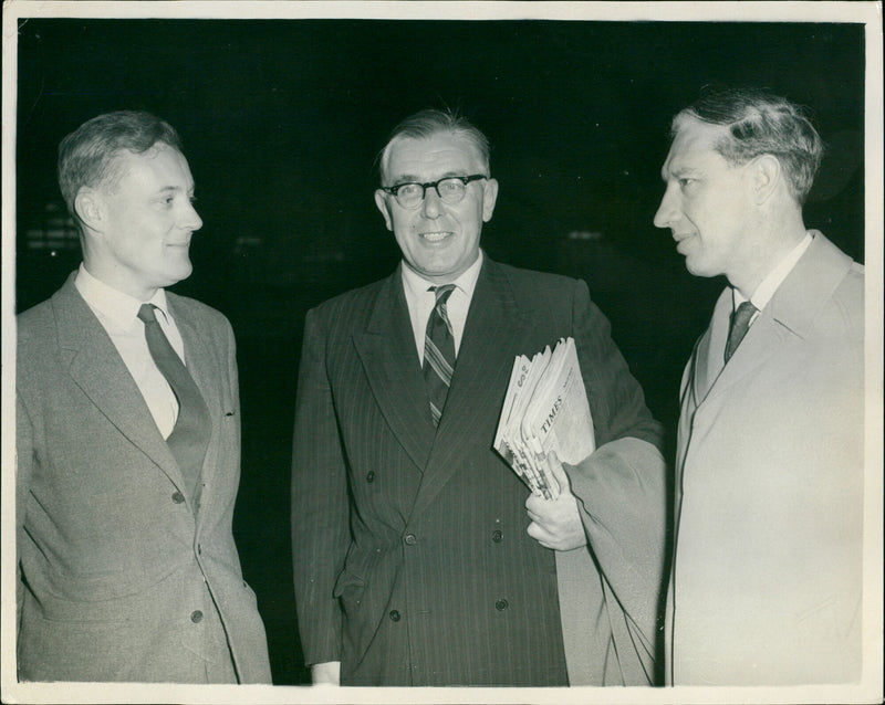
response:
<svg viewBox="0 0 885 705"><path fill-rule="evenodd" d="M704 95L673 134L655 224L728 286L683 377L667 677L855 681L864 270L803 222L821 139L747 90Z"/></svg>

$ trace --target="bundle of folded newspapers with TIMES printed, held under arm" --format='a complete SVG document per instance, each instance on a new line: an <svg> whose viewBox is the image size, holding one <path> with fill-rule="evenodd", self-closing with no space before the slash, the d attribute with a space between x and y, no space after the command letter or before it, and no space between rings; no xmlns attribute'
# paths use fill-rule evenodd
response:
<svg viewBox="0 0 885 705"><path fill-rule="evenodd" d="M573 338L513 362L494 450L535 494L552 499L559 485L548 465L555 451L575 464L595 450L593 419Z"/></svg>

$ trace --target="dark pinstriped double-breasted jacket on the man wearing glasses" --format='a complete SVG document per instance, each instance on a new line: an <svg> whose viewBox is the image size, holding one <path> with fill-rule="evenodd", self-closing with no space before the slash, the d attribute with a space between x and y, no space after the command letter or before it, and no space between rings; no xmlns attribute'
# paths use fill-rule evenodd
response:
<svg viewBox="0 0 885 705"><path fill-rule="evenodd" d="M308 314L292 543L309 664L340 660L353 685L566 683L554 554L491 448L514 356L565 336L597 445L657 442L583 282L486 259L436 432L399 271Z"/></svg>

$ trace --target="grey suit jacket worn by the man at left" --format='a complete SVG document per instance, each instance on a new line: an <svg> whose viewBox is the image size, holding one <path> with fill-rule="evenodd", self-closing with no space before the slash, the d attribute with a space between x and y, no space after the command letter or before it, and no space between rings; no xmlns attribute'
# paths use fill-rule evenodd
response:
<svg viewBox="0 0 885 705"><path fill-rule="evenodd" d="M23 680L202 682L232 661L240 682L270 681L231 534L240 476L233 334L208 306L171 293L167 303L211 418L198 511L74 275L18 318Z"/></svg>

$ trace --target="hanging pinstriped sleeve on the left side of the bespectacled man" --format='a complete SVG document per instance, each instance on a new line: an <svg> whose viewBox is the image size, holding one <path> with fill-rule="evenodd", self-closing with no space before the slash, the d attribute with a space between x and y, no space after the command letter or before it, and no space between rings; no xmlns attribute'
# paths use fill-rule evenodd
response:
<svg viewBox="0 0 885 705"><path fill-rule="evenodd" d="M350 545L346 464L319 318L311 311L304 325L292 453L292 565L308 665L341 659L333 591Z"/></svg>

